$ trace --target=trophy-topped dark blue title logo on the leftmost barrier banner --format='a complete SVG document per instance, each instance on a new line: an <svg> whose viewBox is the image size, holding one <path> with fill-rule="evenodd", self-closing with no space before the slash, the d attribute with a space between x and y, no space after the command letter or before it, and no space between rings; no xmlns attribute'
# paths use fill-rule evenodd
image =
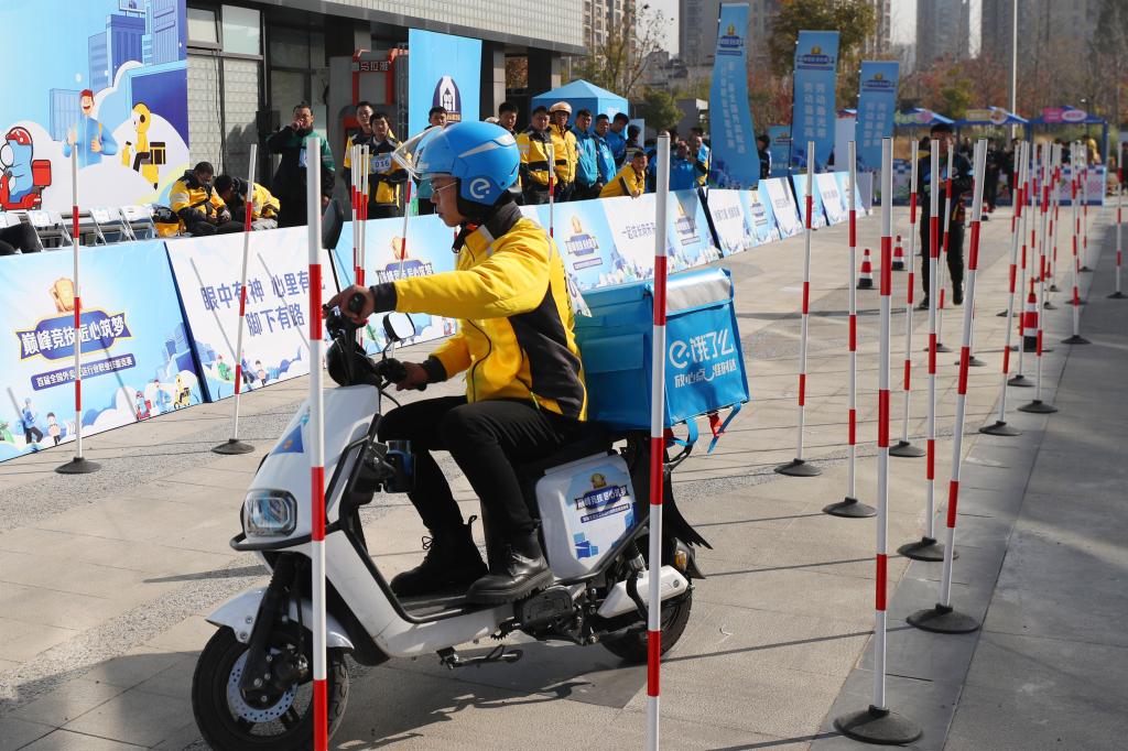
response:
<svg viewBox="0 0 1128 751"><path fill-rule="evenodd" d="M61 277L50 293L59 315L41 319L33 328L15 332L20 360L36 355L47 360L74 356L74 283ZM133 336L124 312L107 313L97 308L81 312L78 330L83 353L109 350L118 339Z"/></svg>

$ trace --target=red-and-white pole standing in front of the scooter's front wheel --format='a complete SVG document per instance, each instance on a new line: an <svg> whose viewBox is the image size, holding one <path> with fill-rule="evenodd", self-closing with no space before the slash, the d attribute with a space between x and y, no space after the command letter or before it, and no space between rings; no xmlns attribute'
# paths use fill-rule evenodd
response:
<svg viewBox="0 0 1128 751"><path fill-rule="evenodd" d="M325 650L325 425L323 380L325 341L321 327L321 143L307 143L306 218L309 241L309 481L310 544L314 606L314 751L326 751L328 690Z"/></svg>

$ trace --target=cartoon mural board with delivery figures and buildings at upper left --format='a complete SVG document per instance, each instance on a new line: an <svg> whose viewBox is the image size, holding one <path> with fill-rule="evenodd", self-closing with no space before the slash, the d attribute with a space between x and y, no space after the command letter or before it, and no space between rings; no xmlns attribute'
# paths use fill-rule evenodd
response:
<svg viewBox="0 0 1128 751"><path fill-rule="evenodd" d="M46 24L45 18L65 18ZM7 0L0 210L165 203L188 168L185 0Z"/></svg>

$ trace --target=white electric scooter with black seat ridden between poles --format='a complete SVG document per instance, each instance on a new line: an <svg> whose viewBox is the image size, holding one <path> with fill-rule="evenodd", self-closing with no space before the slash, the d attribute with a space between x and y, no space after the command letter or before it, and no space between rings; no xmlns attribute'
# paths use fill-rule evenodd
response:
<svg viewBox="0 0 1128 751"><path fill-rule="evenodd" d="M402 380L404 366L388 356L387 347L379 361L365 356L355 344L356 327L340 311L329 311L326 325L337 348L334 353L331 347L331 376L343 387L325 392L329 734L349 695L346 654L364 665L429 653L451 669L511 663L521 652L505 644L474 657L461 657L455 647L521 631L541 640L601 644L629 663L644 663L646 603L638 593L649 585L649 436L600 436L518 468L555 576L547 589L501 606L470 604L460 591L399 599L369 555L359 510L378 491L412 486L409 447L376 438L381 397ZM389 347L414 334L409 317L402 313L387 316L384 327ZM236 550L258 555L271 582L208 618L219 630L196 664L192 706L200 732L218 751L289 751L310 743L308 416L302 406L264 458L243 504L243 532L231 540ZM625 448L613 448L624 442ZM707 546L678 512L670 486L672 469L687 453L664 458L663 652L689 620L690 580L703 577L691 546ZM483 522L491 549L488 520Z"/></svg>

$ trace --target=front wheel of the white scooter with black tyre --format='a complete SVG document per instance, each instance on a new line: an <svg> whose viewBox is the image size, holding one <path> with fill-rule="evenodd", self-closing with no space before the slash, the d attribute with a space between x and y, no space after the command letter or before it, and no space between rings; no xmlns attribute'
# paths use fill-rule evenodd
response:
<svg viewBox="0 0 1128 751"><path fill-rule="evenodd" d="M287 648L296 646L276 644L272 652ZM314 732L312 681L296 682L270 707L253 707L239 691L246 660L247 645L227 627L215 631L200 653L192 678L192 710L204 740L214 751L308 749ZM329 650L326 675L332 736L349 699L349 671L341 651Z"/></svg>

